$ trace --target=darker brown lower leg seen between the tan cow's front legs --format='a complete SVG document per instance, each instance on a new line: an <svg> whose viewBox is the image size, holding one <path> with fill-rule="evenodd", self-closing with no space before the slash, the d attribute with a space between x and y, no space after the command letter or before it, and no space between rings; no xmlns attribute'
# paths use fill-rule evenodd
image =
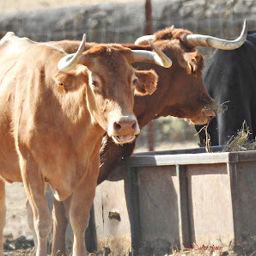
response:
<svg viewBox="0 0 256 256"><path fill-rule="evenodd" d="M53 232L52 232L52 256L66 255L65 254L65 232L69 223L68 217L65 215L66 204L70 203L70 198L64 202L59 202L54 198L52 218L53 218ZM67 210L68 212L68 210Z"/></svg>

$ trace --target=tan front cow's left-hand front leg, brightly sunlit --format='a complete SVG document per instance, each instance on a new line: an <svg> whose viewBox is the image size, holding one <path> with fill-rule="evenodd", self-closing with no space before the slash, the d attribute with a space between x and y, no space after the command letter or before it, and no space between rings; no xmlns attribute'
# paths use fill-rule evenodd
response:
<svg viewBox="0 0 256 256"><path fill-rule="evenodd" d="M47 255L47 238L52 229L52 215L46 202L46 184L37 164L32 159L21 157L21 175L29 204L34 215L34 229L37 236L37 256Z"/></svg>

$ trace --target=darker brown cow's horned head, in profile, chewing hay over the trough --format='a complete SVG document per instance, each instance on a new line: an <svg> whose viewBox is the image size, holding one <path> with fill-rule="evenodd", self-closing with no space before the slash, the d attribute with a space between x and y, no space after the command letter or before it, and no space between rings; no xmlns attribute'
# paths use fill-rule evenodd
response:
<svg viewBox="0 0 256 256"><path fill-rule="evenodd" d="M241 35L236 40L192 34L188 30L174 27L137 39L135 44L145 47L149 46L149 41L154 42L173 60L170 69L156 70L159 76L157 94L162 94L162 109L158 114L189 119L193 124L208 123L216 115L217 106L204 86L204 58L195 47L208 46L231 50L240 47L246 36L247 26L244 22Z"/></svg>

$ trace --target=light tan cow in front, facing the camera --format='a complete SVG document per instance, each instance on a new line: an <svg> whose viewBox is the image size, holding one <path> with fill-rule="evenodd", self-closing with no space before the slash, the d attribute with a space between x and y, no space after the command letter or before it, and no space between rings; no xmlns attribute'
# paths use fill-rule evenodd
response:
<svg viewBox="0 0 256 256"><path fill-rule="evenodd" d="M134 70L131 64L171 65L164 54L159 58L155 52L116 44L84 52L84 44L85 37L77 52L67 55L59 46L26 39L19 45L11 33L0 42L1 256L4 181L24 183L38 256L46 255L52 229L46 185L59 200L72 194L73 255L87 254L84 231L99 174L102 136L106 131L117 144L131 143L140 131L133 94L147 94L147 86L155 88L157 82L155 71Z"/></svg>

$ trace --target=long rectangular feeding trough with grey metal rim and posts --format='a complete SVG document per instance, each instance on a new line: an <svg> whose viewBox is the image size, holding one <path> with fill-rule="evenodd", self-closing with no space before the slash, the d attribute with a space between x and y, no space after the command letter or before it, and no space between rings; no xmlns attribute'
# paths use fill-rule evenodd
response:
<svg viewBox="0 0 256 256"><path fill-rule="evenodd" d="M96 189L88 247L113 255L249 247L256 235L256 151L200 152L125 158Z"/></svg>

